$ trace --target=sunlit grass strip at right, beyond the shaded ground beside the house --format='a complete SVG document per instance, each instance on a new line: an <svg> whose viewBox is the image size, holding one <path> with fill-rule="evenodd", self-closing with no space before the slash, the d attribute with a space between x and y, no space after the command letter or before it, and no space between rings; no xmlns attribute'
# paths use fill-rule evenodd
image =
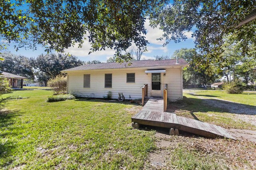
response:
<svg viewBox="0 0 256 170"><path fill-rule="evenodd" d="M243 92L242 94L227 94L226 91L220 90L192 90L192 92L195 93L195 96L200 96L202 98L219 98L240 104L256 106L255 91ZM191 91L186 91L184 95L187 96L189 93L191 93Z"/></svg>

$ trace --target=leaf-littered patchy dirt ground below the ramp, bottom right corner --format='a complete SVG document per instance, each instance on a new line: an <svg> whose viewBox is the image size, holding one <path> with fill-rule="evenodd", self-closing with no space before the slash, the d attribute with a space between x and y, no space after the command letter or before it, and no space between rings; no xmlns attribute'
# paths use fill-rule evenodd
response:
<svg viewBox="0 0 256 170"><path fill-rule="evenodd" d="M156 133L146 169L255 169L256 145L246 139L209 139Z"/></svg>

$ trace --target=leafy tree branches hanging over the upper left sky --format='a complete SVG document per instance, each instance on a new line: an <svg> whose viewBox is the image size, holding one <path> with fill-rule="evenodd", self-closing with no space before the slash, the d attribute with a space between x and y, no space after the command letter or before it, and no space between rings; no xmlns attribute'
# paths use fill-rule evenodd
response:
<svg viewBox="0 0 256 170"><path fill-rule="evenodd" d="M57 52L74 43L81 47L88 38L92 51L115 49L118 59L130 59L121 51L132 42L146 46L144 22L162 4L162 0L2 0L0 34L18 43L16 49L40 44Z"/></svg>

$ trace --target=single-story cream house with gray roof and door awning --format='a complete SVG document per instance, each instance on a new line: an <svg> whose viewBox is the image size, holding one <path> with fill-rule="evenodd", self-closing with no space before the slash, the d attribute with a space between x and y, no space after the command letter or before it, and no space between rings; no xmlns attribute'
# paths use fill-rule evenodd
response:
<svg viewBox="0 0 256 170"><path fill-rule="evenodd" d="M81 97L103 98L111 91L114 99L120 92L126 99L139 99L144 84L148 84L148 97L162 97L168 84L169 100L183 98L182 70L188 65L183 59L128 63L85 64L61 72L68 75L67 92Z"/></svg>

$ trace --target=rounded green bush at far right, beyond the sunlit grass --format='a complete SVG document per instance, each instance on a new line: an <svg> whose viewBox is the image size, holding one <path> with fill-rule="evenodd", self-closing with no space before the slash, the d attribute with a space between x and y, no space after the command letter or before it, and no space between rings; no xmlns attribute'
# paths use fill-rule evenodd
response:
<svg viewBox="0 0 256 170"><path fill-rule="evenodd" d="M228 94L241 94L244 91L244 86L241 81L236 80L234 82L226 82L223 85L223 89L226 90Z"/></svg>

